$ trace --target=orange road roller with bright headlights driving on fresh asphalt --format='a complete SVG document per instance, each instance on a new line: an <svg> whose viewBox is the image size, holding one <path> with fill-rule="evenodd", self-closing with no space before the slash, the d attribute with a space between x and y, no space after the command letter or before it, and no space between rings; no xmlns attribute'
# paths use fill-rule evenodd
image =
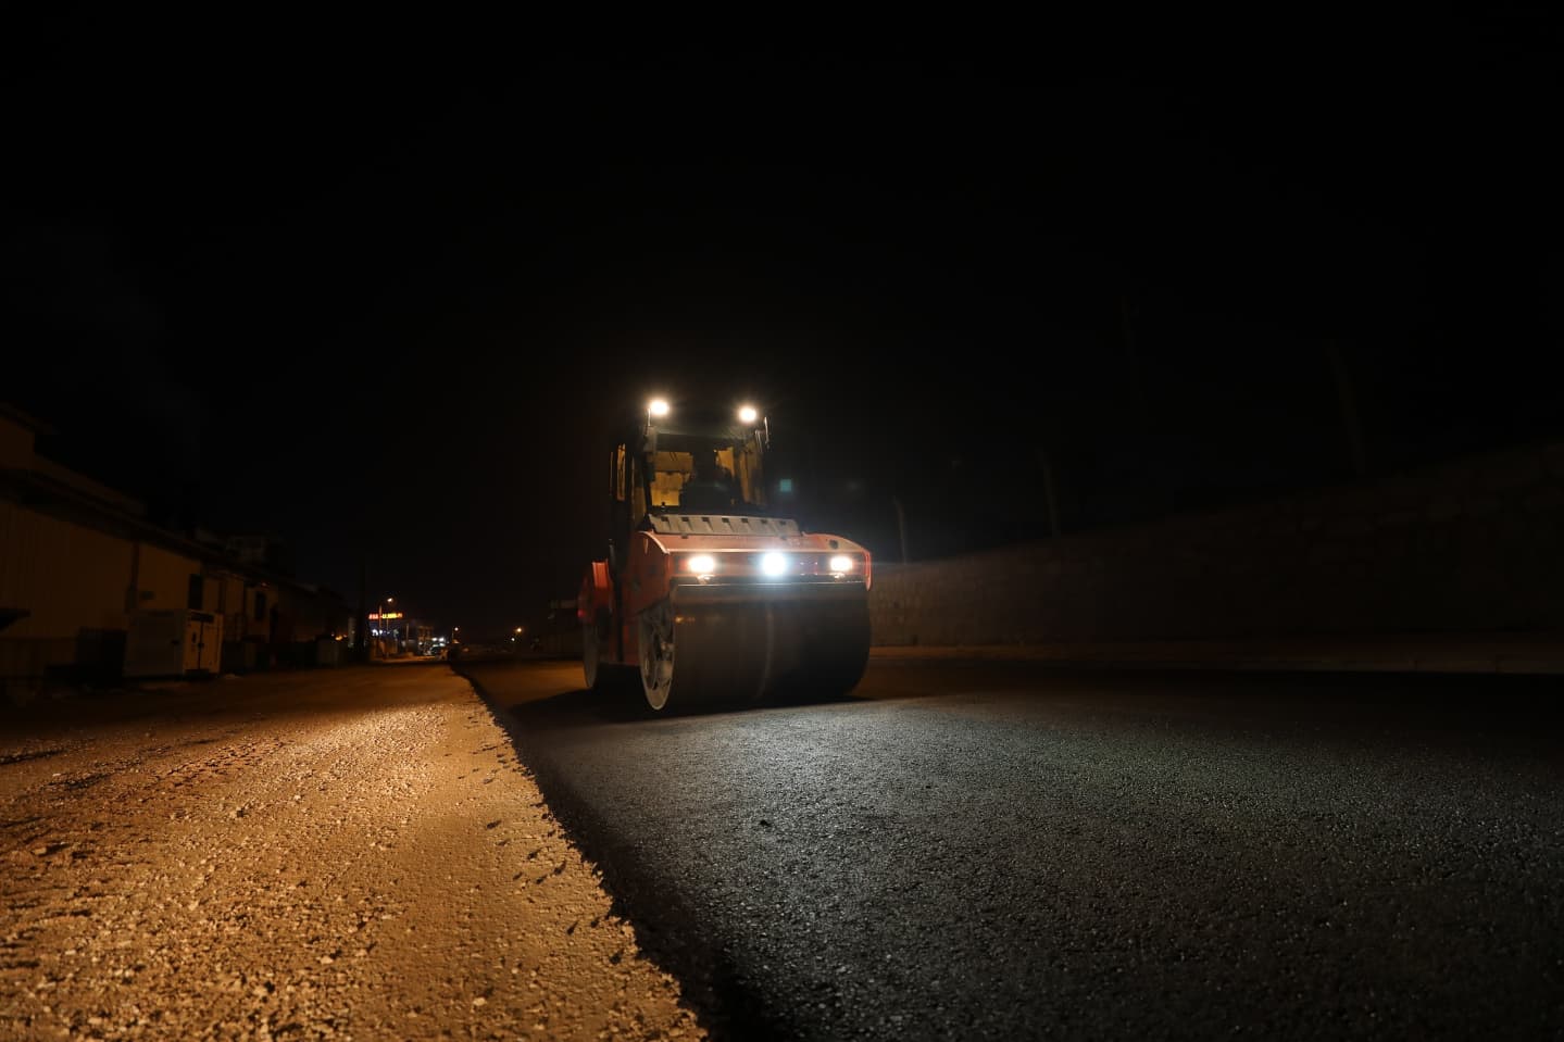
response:
<svg viewBox="0 0 1564 1042"><path fill-rule="evenodd" d="M608 548L577 595L588 688L683 712L857 685L870 552L769 505L759 408L654 399L610 441Z"/></svg>

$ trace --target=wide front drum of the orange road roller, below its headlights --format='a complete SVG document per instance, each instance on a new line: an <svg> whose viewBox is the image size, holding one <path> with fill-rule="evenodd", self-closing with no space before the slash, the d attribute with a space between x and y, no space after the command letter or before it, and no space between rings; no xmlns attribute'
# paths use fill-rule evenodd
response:
<svg viewBox="0 0 1564 1042"><path fill-rule="evenodd" d="M652 709L829 699L863 677L860 598L660 601L640 615L641 685Z"/></svg>

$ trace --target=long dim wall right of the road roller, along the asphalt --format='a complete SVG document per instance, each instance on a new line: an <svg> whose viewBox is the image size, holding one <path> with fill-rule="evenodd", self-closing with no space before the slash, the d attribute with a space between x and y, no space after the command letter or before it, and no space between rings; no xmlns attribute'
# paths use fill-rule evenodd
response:
<svg viewBox="0 0 1564 1042"><path fill-rule="evenodd" d="M1564 631L1564 444L874 566L877 645Z"/></svg>

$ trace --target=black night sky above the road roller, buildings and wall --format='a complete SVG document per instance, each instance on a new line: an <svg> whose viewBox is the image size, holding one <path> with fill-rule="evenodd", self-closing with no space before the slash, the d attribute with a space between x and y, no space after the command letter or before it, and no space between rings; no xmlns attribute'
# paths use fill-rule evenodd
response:
<svg viewBox="0 0 1564 1042"><path fill-rule="evenodd" d="M1370 471L1561 433L1541 19L332 30L16 47L3 397L350 599L571 596L649 390L888 559L1351 480L1333 357Z"/></svg>

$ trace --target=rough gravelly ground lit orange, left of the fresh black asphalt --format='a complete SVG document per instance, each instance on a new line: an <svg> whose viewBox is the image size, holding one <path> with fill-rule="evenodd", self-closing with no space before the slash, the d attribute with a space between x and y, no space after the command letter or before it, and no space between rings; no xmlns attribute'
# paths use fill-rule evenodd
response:
<svg viewBox="0 0 1564 1042"><path fill-rule="evenodd" d="M444 665L0 706L3 1039L699 1039Z"/></svg>

